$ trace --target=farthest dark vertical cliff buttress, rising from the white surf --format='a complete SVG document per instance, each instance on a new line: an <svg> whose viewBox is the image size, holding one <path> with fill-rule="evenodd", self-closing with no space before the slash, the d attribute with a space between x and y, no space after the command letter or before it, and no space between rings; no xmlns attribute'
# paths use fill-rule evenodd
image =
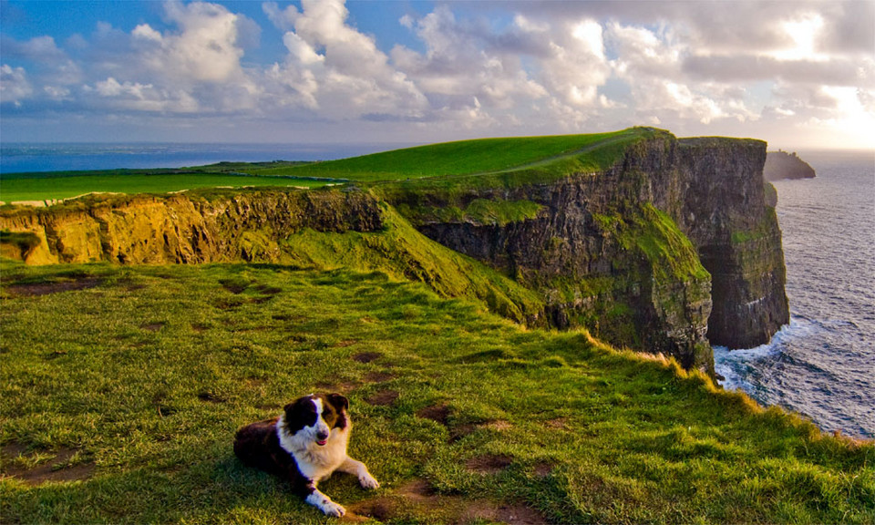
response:
<svg viewBox="0 0 875 525"><path fill-rule="evenodd" d="M763 345L789 322L781 232L761 175L765 144L685 139L678 152L690 184L678 225L712 278L708 339Z"/></svg>

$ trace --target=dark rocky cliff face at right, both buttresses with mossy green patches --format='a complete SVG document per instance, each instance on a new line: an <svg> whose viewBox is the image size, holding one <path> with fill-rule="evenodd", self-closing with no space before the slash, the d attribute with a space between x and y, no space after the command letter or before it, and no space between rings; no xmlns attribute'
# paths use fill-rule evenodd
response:
<svg viewBox="0 0 875 525"><path fill-rule="evenodd" d="M759 345L788 321L765 155L757 140L665 134L601 173L393 199L427 236L540 290L553 324L710 370L709 341ZM479 200L538 211L504 224L436 212Z"/></svg>

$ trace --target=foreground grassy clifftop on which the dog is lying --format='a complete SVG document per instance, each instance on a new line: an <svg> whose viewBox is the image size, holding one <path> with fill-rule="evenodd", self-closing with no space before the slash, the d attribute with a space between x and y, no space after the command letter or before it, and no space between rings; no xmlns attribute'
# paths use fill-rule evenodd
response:
<svg viewBox="0 0 875 525"><path fill-rule="evenodd" d="M470 510L484 502L564 523L875 520L872 443L421 283L246 264L0 271L0 444L18 450L4 472L57 455L91 469L3 477L3 522L323 523L231 444L325 390L351 400L350 452L381 481L389 522L482 523ZM386 390L393 403L367 402ZM420 417L436 406L446 425ZM411 479L436 494L405 497ZM320 488L378 507L349 476Z"/></svg>

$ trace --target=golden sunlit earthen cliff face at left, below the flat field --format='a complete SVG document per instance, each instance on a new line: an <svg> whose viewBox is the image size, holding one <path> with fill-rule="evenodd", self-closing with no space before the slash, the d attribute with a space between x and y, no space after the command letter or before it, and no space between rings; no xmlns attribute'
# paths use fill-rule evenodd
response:
<svg viewBox="0 0 875 525"><path fill-rule="evenodd" d="M35 264L280 262L285 255L279 242L304 228L374 232L382 226L373 197L340 191L138 196L0 217L0 229L35 236L20 252Z"/></svg>

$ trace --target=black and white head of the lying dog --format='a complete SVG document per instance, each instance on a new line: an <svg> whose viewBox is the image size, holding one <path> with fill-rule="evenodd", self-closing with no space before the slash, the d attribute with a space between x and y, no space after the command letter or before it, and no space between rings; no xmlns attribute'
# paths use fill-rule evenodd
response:
<svg viewBox="0 0 875 525"><path fill-rule="evenodd" d="M324 447L334 428L343 430L347 426L347 408L349 400L340 394L299 397L284 408L285 430Z"/></svg>

